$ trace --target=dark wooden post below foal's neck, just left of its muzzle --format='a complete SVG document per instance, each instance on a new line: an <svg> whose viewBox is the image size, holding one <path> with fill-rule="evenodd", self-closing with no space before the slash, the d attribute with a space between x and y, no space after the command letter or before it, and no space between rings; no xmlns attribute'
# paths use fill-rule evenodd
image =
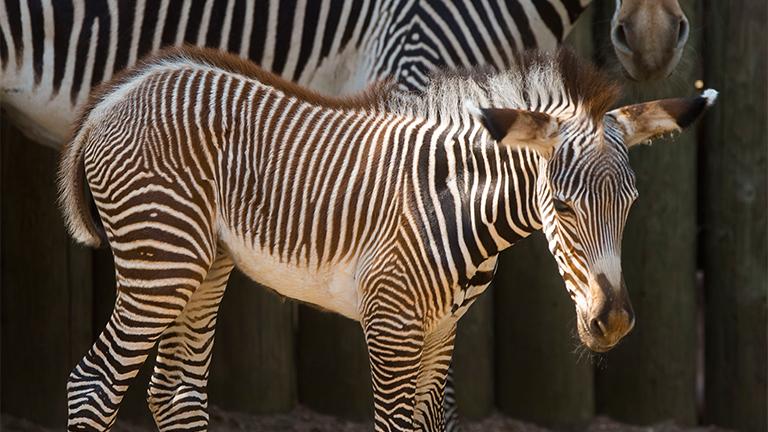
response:
<svg viewBox="0 0 768 432"><path fill-rule="evenodd" d="M592 8L569 45L592 52ZM575 306L541 233L501 254L495 282L496 402L515 418L568 425L594 412L593 373L574 353Z"/></svg>

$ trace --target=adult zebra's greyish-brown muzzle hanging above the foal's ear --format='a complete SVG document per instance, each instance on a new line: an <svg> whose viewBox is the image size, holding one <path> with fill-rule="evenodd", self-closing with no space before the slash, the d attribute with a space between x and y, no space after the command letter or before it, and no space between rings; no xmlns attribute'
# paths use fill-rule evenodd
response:
<svg viewBox="0 0 768 432"><path fill-rule="evenodd" d="M611 43L627 76L664 79L674 71L690 25L678 0L616 0Z"/></svg>

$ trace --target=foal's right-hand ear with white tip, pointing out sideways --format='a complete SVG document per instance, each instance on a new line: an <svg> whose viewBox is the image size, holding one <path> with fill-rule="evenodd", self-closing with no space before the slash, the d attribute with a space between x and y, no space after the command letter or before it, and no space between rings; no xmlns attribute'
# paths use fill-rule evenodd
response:
<svg viewBox="0 0 768 432"><path fill-rule="evenodd" d="M717 91L704 90L692 98L662 99L637 105L627 105L606 114L624 131L624 144L632 147L648 143L693 124L717 99Z"/></svg>

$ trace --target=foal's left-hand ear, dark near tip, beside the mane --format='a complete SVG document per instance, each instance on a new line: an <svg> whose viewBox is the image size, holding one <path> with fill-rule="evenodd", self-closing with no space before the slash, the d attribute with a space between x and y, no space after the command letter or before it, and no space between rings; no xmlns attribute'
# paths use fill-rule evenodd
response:
<svg viewBox="0 0 768 432"><path fill-rule="evenodd" d="M548 158L558 142L560 125L548 114L513 108L470 106L469 110L501 144L530 148Z"/></svg>

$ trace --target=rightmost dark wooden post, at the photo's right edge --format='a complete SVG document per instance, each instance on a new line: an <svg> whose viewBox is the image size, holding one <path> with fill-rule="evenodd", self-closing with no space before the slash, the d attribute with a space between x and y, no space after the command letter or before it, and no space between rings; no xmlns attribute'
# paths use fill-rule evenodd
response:
<svg viewBox="0 0 768 432"><path fill-rule="evenodd" d="M705 83L720 99L702 140L704 421L765 431L768 8L765 0L708 0L705 8Z"/></svg>

